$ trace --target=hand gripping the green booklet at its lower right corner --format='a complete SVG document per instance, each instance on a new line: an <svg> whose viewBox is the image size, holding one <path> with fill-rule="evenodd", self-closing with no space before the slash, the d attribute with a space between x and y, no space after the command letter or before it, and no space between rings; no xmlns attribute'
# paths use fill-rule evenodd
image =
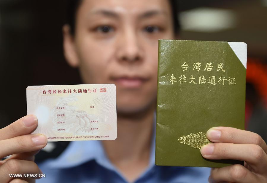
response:
<svg viewBox="0 0 267 183"><path fill-rule="evenodd" d="M212 168L209 182L267 182L267 145L258 135L250 131L230 127L214 127L207 131L212 144L201 147L206 159L233 159L245 162L223 168Z"/></svg>

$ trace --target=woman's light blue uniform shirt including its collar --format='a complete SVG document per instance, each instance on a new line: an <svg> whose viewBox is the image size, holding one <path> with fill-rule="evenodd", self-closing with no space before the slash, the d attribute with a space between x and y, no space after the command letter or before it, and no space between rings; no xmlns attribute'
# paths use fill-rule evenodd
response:
<svg viewBox="0 0 267 183"><path fill-rule="evenodd" d="M39 164L45 178L37 183L126 183L120 171L109 161L101 141L73 141L56 159ZM150 162L134 183L206 183L210 168L155 166L155 130Z"/></svg>

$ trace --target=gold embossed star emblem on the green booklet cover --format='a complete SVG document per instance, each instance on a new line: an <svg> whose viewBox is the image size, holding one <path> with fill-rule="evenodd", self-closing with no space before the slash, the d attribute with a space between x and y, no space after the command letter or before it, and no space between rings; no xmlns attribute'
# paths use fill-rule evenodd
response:
<svg viewBox="0 0 267 183"><path fill-rule="evenodd" d="M187 135L187 136L182 136L178 139L179 142L183 144L190 145L193 148L201 148L202 146L206 144L212 143L208 138L207 135L204 134L203 132L198 132Z"/></svg>

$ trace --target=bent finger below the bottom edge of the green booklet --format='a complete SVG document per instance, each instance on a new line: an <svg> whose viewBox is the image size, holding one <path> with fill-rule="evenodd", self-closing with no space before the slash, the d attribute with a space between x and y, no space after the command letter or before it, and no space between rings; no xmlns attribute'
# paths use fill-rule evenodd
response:
<svg viewBox="0 0 267 183"><path fill-rule="evenodd" d="M214 168L209 177L210 182L260 182L259 178L242 165Z"/></svg>

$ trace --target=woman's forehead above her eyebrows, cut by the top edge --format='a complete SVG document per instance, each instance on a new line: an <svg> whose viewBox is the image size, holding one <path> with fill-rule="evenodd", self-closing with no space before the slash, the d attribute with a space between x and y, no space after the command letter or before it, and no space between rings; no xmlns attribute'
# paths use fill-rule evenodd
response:
<svg viewBox="0 0 267 183"><path fill-rule="evenodd" d="M130 16L151 10L171 14L169 0L83 0L78 14L94 14L101 10Z"/></svg>

